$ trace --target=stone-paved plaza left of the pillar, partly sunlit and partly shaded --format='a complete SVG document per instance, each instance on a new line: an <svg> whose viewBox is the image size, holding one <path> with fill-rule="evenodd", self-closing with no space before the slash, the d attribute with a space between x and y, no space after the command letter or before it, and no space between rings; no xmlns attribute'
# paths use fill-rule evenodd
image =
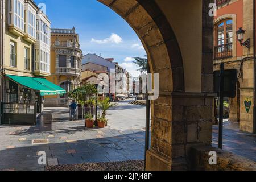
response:
<svg viewBox="0 0 256 182"><path fill-rule="evenodd" d="M69 121L68 111L46 108L37 126L0 126L0 170L44 170L39 151L51 165L144 159L145 107L120 103L109 111L105 129ZM32 144L36 139L48 144Z"/></svg>

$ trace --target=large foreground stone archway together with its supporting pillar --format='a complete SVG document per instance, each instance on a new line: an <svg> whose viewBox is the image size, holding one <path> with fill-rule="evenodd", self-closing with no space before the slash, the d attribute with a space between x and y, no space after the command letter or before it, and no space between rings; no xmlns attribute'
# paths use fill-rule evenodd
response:
<svg viewBox="0 0 256 182"><path fill-rule="evenodd" d="M189 169L190 148L212 142L213 23L209 22L213 22L213 18L208 15L208 5L213 1L181 0L190 3L187 9L195 8L189 12L196 16L196 23L201 27L201 30L197 27L200 31L195 32L195 38L188 41L182 40L181 36L177 39L170 23L172 20L163 13L164 5L162 9L158 6L162 3L158 0L97 1L110 7L130 24L146 49L151 73L159 73L159 98L151 101L151 148L147 151L146 169ZM174 6L179 4L179 8L183 5L176 1L170 3ZM174 22L179 23L177 20ZM189 26L183 23L184 28L189 29ZM175 28L177 33L179 28ZM197 52L193 52L193 40L201 40L197 43ZM189 60L189 50L186 50L189 46L191 55L196 55L192 57L199 60ZM195 61L196 69L191 67L191 61ZM189 83L193 72L198 78L195 85Z"/></svg>

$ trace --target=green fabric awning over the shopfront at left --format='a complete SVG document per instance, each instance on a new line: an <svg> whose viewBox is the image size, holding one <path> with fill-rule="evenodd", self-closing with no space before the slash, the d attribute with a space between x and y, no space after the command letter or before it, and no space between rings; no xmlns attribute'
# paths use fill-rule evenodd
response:
<svg viewBox="0 0 256 182"><path fill-rule="evenodd" d="M38 90L41 96L50 96L50 95L66 93L66 90L64 90L60 86L53 84L52 82L44 78L15 76L15 75L6 75L6 76L20 85L23 85L27 88L31 88L34 90Z"/></svg>

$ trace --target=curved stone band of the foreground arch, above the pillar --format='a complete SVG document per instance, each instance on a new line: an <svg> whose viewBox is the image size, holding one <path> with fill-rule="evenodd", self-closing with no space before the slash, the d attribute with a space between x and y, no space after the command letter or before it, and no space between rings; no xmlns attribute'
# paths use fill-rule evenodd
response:
<svg viewBox="0 0 256 182"><path fill-rule="evenodd" d="M152 73L159 73L160 90L184 92L183 62L174 31L154 1L98 0L122 16L148 53ZM175 55L170 60L170 55ZM175 79L172 75L175 74ZM170 79L171 78L171 79ZM165 82L170 80L170 82Z"/></svg>

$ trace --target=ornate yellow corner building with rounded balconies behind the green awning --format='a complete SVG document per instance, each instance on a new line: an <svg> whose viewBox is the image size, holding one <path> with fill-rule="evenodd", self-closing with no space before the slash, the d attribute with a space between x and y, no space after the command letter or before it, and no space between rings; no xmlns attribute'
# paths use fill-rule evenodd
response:
<svg viewBox="0 0 256 182"><path fill-rule="evenodd" d="M67 91L58 96L46 96L46 106L68 105L68 92L80 86L82 51L79 35L73 29L51 30L51 76L48 81Z"/></svg>

